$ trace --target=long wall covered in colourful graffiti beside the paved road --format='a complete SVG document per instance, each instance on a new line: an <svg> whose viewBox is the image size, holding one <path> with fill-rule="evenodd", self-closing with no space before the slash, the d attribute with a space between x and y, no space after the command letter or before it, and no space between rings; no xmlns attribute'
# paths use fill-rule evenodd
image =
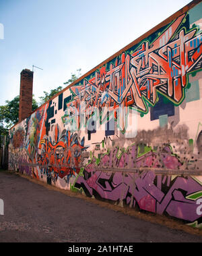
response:
<svg viewBox="0 0 202 256"><path fill-rule="evenodd" d="M13 126L9 169L202 228L201 14L193 1Z"/></svg>

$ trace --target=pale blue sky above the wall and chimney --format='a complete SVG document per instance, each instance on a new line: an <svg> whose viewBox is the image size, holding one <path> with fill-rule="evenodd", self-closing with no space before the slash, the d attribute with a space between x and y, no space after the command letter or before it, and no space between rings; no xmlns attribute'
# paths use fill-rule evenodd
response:
<svg viewBox="0 0 202 256"><path fill-rule="evenodd" d="M34 69L33 93L64 86L119 51L190 0L1 0L0 105L20 93Z"/></svg>

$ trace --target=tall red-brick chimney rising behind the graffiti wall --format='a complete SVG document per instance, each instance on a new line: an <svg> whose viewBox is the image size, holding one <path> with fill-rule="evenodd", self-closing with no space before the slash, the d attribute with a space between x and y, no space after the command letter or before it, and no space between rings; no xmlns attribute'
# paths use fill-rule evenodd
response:
<svg viewBox="0 0 202 256"><path fill-rule="evenodd" d="M28 118L32 113L32 87L33 73L30 70L22 70L20 73L20 105L19 121Z"/></svg>

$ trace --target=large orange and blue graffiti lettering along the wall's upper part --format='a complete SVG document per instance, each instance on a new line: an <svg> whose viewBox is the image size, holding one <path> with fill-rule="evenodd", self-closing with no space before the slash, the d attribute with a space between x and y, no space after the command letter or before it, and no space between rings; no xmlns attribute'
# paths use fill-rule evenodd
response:
<svg viewBox="0 0 202 256"><path fill-rule="evenodd" d="M135 106L147 113L146 102L154 106L158 93L180 104L187 86L187 73L202 68L202 36L197 34L197 28L184 27L184 19L185 14L159 32L154 41L143 41L134 50L106 63L91 78L83 79L83 84L72 86L74 97L67 103L63 122L80 116L80 112L90 116L95 107L99 111L102 107L115 111L120 106L125 110ZM77 128L79 121L77 118Z"/></svg>

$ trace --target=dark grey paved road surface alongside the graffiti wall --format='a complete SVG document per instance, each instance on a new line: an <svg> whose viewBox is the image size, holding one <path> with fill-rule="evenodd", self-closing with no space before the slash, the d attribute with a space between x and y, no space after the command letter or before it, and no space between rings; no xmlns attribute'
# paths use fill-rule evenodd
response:
<svg viewBox="0 0 202 256"><path fill-rule="evenodd" d="M202 242L2 171L0 198L0 242Z"/></svg>

